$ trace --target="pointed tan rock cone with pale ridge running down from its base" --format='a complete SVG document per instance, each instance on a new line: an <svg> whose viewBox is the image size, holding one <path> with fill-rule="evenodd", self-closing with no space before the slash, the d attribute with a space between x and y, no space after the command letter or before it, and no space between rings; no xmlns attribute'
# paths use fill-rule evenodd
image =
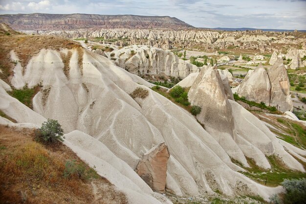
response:
<svg viewBox="0 0 306 204"><path fill-rule="evenodd" d="M229 86L227 84L227 86ZM205 126L205 130L214 136L230 157L248 166L240 148L234 142L234 120L228 97L232 97L231 89L225 91L217 67L202 68L188 92L192 105L201 107L197 120ZM212 105L214 104L214 105Z"/></svg>

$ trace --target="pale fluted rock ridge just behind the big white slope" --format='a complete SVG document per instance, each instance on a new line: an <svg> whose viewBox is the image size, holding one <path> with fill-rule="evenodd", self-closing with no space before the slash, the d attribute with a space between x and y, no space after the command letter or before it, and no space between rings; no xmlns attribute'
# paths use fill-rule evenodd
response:
<svg viewBox="0 0 306 204"><path fill-rule="evenodd" d="M173 52L152 46L132 45L109 52L108 55L117 66L137 75L164 73L185 78L199 71L197 66L178 59Z"/></svg>

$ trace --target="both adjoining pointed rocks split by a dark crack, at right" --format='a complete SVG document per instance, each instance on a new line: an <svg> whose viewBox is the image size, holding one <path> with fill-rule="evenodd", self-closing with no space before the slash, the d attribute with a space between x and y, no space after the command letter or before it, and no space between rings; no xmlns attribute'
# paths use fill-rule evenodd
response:
<svg viewBox="0 0 306 204"><path fill-rule="evenodd" d="M282 58L277 58L268 72L260 64L248 72L238 89L238 94L247 100L275 106L282 112L293 108L290 99L290 84Z"/></svg>

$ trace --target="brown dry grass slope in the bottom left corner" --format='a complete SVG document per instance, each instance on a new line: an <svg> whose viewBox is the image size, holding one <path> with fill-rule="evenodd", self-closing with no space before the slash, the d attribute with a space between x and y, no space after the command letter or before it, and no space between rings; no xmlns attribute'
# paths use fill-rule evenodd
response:
<svg viewBox="0 0 306 204"><path fill-rule="evenodd" d="M44 146L33 138L34 130L0 126L0 204L126 204L123 193L64 144ZM90 178L65 178L67 160L90 170ZM96 191L96 186L104 187Z"/></svg>

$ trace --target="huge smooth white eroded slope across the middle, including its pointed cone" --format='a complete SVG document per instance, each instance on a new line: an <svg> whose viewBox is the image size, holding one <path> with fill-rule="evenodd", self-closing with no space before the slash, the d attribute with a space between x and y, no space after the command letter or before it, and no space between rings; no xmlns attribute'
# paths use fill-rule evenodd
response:
<svg viewBox="0 0 306 204"><path fill-rule="evenodd" d="M25 46L25 40L18 42ZM37 42L31 46L38 47ZM282 190L243 176L238 171L244 170L229 155L245 166L245 156L250 157L266 169L270 164L265 156L277 155L288 168L305 172L258 118L228 99L216 68L202 69L189 93L191 102L202 107L198 119L204 129L191 113L151 90L152 84L99 54L81 47L51 49L50 45L27 55L28 61L18 53L16 48L5 53L9 62L15 62L8 82L17 89L41 88L31 110L10 96L6 91L11 87L0 80L0 110L17 123L33 126L40 126L45 118L58 120L67 134L65 144L96 166L97 173L122 190L131 204L169 203L156 199L160 194L134 172L141 159L151 164L161 159L163 170L167 163L165 190L178 196L218 189L225 195L259 194L268 199ZM132 97L135 90L141 94ZM5 121L0 117L1 123ZM170 154L167 162L165 148L156 152L153 148L162 143ZM299 150L299 154L306 152ZM155 176L158 171L146 172Z"/></svg>

